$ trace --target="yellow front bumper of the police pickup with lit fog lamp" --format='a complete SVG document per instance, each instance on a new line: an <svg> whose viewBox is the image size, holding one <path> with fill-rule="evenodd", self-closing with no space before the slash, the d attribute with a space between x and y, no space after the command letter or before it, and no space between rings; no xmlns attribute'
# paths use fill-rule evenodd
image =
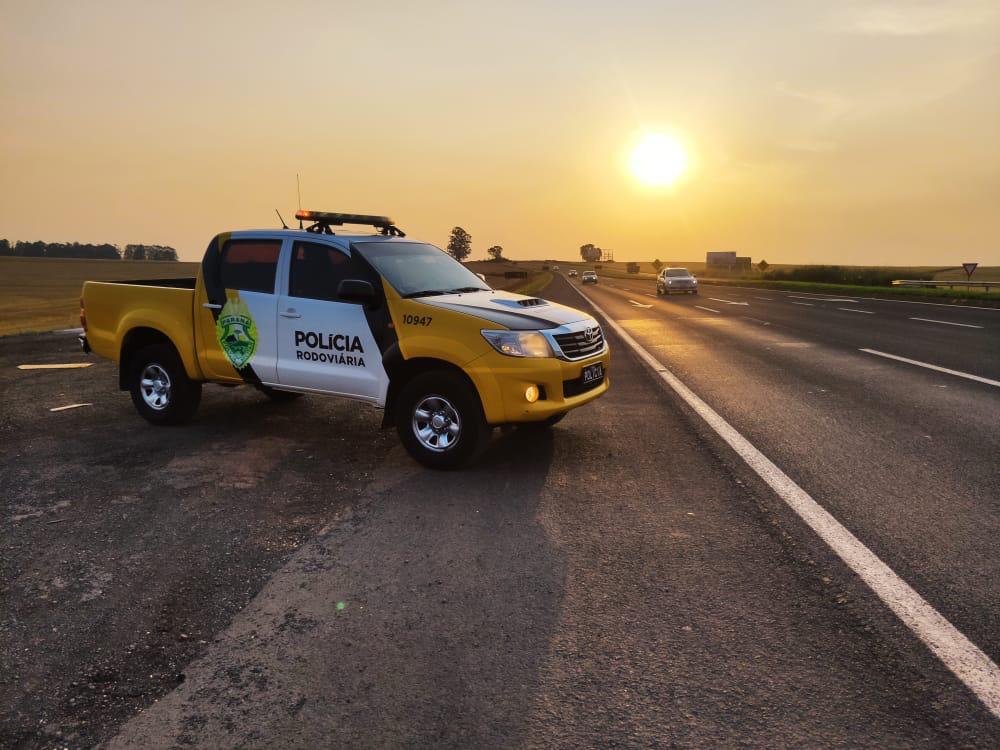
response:
<svg viewBox="0 0 1000 750"><path fill-rule="evenodd" d="M580 383L583 369L598 362L604 366L604 379L596 386L576 392L587 387ZM537 422L599 398L610 387L610 365L611 350L605 345L603 352L573 362L555 357L508 357L489 352L475 359L465 370L479 390L486 421L507 424ZM543 391L542 397L534 403L528 403L524 397L531 385Z"/></svg>

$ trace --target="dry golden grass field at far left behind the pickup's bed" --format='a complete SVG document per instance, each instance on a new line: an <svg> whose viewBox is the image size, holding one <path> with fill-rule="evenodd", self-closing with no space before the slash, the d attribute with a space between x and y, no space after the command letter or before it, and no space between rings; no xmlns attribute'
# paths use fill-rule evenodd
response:
<svg viewBox="0 0 1000 750"><path fill-rule="evenodd" d="M0 336L80 325L84 281L194 276L197 263L0 258Z"/></svg>

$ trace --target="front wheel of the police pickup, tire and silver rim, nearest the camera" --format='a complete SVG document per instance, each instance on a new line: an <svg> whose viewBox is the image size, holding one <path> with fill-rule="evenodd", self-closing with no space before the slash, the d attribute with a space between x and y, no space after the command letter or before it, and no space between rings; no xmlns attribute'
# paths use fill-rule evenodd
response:
<svg viewBox="0 0 1000 750"><path fill-rule="evenodd" d="M476 389L447 370L415 376L400 390L394 412L403 447L431 469L456 469L472 463L485 450L492 432ZM431 415L441 417L437 426ZM452 427L455 424L457 430ZM448 440L452 442L442 444Z"/></svg>

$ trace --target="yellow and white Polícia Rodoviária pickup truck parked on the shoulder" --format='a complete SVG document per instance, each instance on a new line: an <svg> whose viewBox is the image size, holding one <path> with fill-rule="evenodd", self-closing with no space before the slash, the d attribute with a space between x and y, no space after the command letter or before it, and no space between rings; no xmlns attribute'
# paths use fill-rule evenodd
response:
<svg viewBox="0 0 1000 750"><path fill-rule="evenodd" d="M494 426L552 425L607 391L587 313L490 289L386 217L296 218L311 224L218 235L197 278L84 283L82 346L119 363L143 417L185 421L205 382L343 396L384 408L414 458L448 468ZM377 231L333 231L345 224Z"/></svg>

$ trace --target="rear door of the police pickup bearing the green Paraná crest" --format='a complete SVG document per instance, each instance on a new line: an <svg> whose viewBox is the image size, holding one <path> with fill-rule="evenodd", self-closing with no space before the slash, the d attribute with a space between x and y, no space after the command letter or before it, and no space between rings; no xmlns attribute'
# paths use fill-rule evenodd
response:
<svg viewBox="0 0 1000 750"><path fill-rule="evenodd" d="M217 238L202 266L195 310L201 366L211 380L273 383L277 378L275 294L282 240Z"/></svg>

